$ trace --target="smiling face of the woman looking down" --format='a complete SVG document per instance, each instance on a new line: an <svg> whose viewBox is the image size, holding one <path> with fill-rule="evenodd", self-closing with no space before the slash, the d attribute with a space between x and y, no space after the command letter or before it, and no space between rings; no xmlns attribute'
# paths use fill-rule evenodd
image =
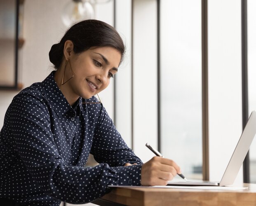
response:
<svg viewBox="0 0 256 206"><path fill-rule="evenodd" d="M74 95L88 99L108 87L121 54L112 47L91 48L80 54L72 52L69 61L67 67L71 65L74 77L67 83Z"/></svg>

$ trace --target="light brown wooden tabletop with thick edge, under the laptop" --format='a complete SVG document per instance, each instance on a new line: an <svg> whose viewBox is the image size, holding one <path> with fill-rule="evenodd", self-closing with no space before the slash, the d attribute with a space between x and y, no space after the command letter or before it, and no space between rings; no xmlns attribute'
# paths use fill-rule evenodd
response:
<svg viewBox="0 0 256 206"><path fill-rule="evenodd" d="M256 206L256 184L245 190L115 188L93 202L102 206Z"/></svg>

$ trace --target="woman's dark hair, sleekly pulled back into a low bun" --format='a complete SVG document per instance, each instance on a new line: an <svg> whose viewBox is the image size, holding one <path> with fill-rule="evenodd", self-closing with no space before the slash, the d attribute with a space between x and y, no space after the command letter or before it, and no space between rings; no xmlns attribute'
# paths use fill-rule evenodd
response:
<svg viewBox="0 0 256 206"><path fill-rule="evenodd" d="M124 42L115 28L99 20L85 20L75 23L62 37L58 44L53 44L49 59L56 69L61 65L66 40L74 44L74 52L79 54L91 47L113 47L121 53L121 61L125 52Z"/></svg>

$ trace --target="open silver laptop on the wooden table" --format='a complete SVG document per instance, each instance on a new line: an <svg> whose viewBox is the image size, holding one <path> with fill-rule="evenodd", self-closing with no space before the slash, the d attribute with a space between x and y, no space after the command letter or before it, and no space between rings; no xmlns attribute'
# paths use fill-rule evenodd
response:
<svg viewBox="0 0 256 206"><path fill-rule="evenodd" d="M256 134L256 112L252 111L247 121L244 131L235 147L233 155L230 158L228 166L221 178L221 182L209 182L209 181L186 181L186 182L174 182L168 181L167 185L179 185L179 186L227 186L233 185L235 178L244 162L244 158L249 151L252 140Z"/></svg>

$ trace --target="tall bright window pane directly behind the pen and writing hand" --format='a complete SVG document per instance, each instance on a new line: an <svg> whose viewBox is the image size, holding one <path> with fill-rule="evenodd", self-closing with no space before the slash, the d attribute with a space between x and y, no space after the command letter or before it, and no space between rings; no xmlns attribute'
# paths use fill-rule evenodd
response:
<svg viewBox="0 0 256 206"><path fill-rule="evenodd" d="M161 153L202 179L201 0L160 2Z"/></svg>

